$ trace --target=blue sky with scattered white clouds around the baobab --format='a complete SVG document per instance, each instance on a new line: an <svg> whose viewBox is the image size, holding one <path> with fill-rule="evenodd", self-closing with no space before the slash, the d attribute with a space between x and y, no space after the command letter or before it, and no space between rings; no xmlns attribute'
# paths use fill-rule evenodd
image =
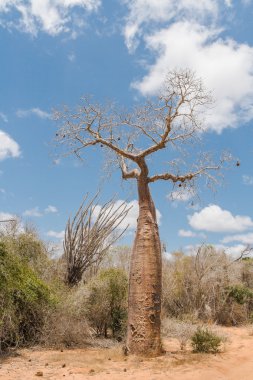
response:
<svg viewBox="0 0 253 380"><path fill-rule="evenodd" d="M84 194L102 187L101 202L115 193L132 202L131 244L134 185L119 171L105 179L100 154L83 164L57 155L52 110L84 94L131 107L155 95L168 70L190 68L216 99L203 148L229 150L241 166L199 199L172 202L169 183L152 185L161 239L167 251L253 244L252 17L251 0L0 0L1 218L18 215L60 242Z"/></svg>

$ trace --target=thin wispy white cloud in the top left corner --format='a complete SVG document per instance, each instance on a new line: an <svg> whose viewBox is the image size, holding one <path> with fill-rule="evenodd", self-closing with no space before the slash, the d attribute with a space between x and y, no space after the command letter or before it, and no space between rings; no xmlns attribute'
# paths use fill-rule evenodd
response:
<svg viewBox="0 0 253 380"><path fill-rule="evenodd" d="M39 31L51 36L72 33L80 28L75 10L83 10L84 17L85 12L96 12L100 5L101 0L0 0L1 25L33 36Z"/></svg>

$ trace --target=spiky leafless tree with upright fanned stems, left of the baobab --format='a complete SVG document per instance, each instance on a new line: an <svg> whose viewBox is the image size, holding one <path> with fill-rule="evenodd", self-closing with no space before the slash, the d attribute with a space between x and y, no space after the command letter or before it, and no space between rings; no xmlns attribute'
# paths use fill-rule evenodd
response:
<svg viewBox="0 0 253 380"><path fill-rule="evenodd" d="M98 267L104 255L125 232L117 227L126 217L126 203L110 200L102 207L96 203L97 195L88 201L88 195L74 218L69 218L63 242L64 259L67 266L66 283L78 284L85 271Z"/></svg>

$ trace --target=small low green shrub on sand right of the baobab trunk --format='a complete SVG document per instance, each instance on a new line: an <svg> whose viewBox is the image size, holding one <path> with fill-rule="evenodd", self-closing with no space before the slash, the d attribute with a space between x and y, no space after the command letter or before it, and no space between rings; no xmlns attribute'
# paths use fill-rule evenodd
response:
<svg viewBox="0 0 253 380"><path fill-rule="evenodd" d="M215 354L220 351L222 338L208 328L198 327L191 338L193 352L204 352Z"/></svg>

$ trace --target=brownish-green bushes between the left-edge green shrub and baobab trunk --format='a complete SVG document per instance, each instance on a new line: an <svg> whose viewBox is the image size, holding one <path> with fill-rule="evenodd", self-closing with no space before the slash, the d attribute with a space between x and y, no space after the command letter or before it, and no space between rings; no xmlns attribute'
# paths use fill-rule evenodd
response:
<svg viewBox="0 0 253 380"><path fill-rule="evenodd" d="M46 346L71 347L86 345L99 336L122 339L127 287L125 272L110 268L99 272L87 284L62 289L61 301L48 315L41 342Z"/></svg>

